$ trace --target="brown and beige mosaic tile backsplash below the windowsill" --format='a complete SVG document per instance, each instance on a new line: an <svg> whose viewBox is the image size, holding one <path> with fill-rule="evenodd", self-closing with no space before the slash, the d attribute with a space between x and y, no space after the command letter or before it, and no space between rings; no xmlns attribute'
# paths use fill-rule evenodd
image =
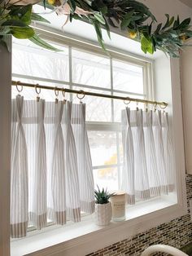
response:
<svg viewBox="0 0 192 256"><path fill-rule="evenodd" d="M192 175L186 175L186 190L188 214L172 219L158 227L133 236L131 239L117 241L104 249L87 254L86 256L140 256L142 251L150 245L166 244L178 249L192 242L192 222L190 221L190 199L192 199ZM153 254L155 256L167 254Z"/></svg>

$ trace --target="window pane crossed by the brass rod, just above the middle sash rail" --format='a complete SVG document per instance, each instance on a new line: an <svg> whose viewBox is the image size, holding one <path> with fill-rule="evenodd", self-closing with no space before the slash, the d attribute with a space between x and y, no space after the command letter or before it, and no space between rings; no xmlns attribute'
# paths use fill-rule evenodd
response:
<svg viewBox="0 0 192 256"><path fill-rule="evenodd" d="M72 89L82 90L81 87L76 86L73 86ZM103 90L91 90L87 88L84 90L101 94L110 94ZM73 94L72 101L74 103L79 103L80 99L77 99L76 95ZM86 121L111 121L111 99L85 95L82 102L86 104Z"/></svg>

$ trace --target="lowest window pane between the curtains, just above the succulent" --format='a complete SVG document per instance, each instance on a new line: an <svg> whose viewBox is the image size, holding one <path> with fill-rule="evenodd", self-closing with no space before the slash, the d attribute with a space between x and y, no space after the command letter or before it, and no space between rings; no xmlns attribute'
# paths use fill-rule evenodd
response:
<svg viewBox="0 0 192 256"><path fill-rule="evenodd" d="M118 175L116 167L94 170L94 187L107 188L109 191L118 190Z"/></svg>

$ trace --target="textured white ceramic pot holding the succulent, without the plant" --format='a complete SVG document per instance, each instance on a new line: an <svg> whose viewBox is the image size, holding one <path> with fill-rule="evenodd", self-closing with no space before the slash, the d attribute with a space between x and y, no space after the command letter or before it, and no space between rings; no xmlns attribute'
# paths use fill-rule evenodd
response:
<svg viewBox="0 0 192 256"><path fill-rule="evenodd" d="M107 204L95 204L95 223L99 226L107 226L112 217L111 202Z"/></svg>

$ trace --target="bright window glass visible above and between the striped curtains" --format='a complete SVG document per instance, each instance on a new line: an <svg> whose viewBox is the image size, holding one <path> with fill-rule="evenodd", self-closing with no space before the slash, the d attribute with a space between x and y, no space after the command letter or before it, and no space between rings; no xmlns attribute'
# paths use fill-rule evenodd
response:
<svg viewBox="0 0 192 256"><path fill-rule="evenodd" d="M57 46L58 47L58 46ZM15 40L13 44L13 78L23 82L87 90L108 95L131 96L145 99L146 73L151 64L133 60L129 56L98 55L93 52L59 46L55 53ZM43 64L43 65L42 65ZM148 91L148 90L147 90ZM17 91L12 90L15 97ZM36 93L24 88L25 99L34 99ZM62 97L62 95L59 95ZM41 98L55 100L53 91L42 90ZM76 95L68 99L78 103ZM86 96L86 125L93 161L94 184L117 190L123 163L120 116L124 102L114 99ZM129 104L136 108L136 104Z"/></svg>

